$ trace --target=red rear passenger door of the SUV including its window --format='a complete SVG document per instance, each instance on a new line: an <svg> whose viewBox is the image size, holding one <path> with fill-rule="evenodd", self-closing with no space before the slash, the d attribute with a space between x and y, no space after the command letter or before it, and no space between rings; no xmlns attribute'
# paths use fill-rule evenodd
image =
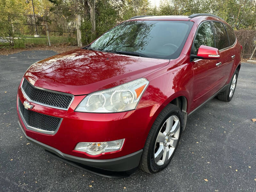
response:
<svg viewBox="0 0 256 192"><path fill-rule="evenodd" d="M234 64L234 49L232 44L228 41L228 34L223 23L212 22L214 26L214 34L217 40L217 48L220 51L221 65L218 66L220 85L224 86L229 78L230 72L233 69ZM230 37L231 40L231 37Z"/></svg>

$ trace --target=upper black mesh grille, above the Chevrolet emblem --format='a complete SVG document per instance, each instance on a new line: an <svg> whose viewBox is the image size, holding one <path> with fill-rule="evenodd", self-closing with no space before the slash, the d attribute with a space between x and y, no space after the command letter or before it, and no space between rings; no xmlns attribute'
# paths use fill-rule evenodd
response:
<svg viewBox="0 0 256 192"><path fill-rule="evenodd" d="M28 96L27 99L58 108L67 109L73 99L71 95L59 94L55 92L45 91L42 89L37 89L25 78L22 83L22 89Z"/></svg>

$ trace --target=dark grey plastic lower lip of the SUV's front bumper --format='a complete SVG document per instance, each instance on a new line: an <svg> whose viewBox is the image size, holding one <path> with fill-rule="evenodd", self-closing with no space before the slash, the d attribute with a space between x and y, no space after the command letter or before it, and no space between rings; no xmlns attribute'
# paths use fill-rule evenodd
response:
<svg viewBox="0 0 256 192"><path fill-rule="evenodd" d="M20 122L19 122L20 125ZM22 126L20 128L24 136L32 143L44 148L47 155L53 156L68 164L74 165L88 172L111 178L122 178L136 170L140 162L142 149L132 154L113 159L88 159L62 153L60 150L45 145L31 137L28 137Z"/></svg>

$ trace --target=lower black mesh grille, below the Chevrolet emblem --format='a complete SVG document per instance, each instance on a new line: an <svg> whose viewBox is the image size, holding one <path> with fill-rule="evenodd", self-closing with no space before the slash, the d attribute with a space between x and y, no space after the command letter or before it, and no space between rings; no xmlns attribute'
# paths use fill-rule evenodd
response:
<svg viewBox="0 0 256 192"><path fill-rule="evenodd" d="M35 111L25 109L20 99L19 99L19 108L20 108L20 113L23 116L25 122L30 127L42 129L45 131L55 131L59 126L61 118L48 116L41 113L37 113Z"/></svg>

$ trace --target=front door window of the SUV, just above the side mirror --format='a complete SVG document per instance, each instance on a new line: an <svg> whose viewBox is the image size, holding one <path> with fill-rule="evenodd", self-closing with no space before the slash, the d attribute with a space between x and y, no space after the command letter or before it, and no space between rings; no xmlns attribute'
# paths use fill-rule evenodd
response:
<svg viewBox="0 0 256 192"><path fill-rule="evenodd" d="M195 54L201 45L215 47L212 27L210 22L203 23L197 30L196 38L194 40Z"/></svg>

